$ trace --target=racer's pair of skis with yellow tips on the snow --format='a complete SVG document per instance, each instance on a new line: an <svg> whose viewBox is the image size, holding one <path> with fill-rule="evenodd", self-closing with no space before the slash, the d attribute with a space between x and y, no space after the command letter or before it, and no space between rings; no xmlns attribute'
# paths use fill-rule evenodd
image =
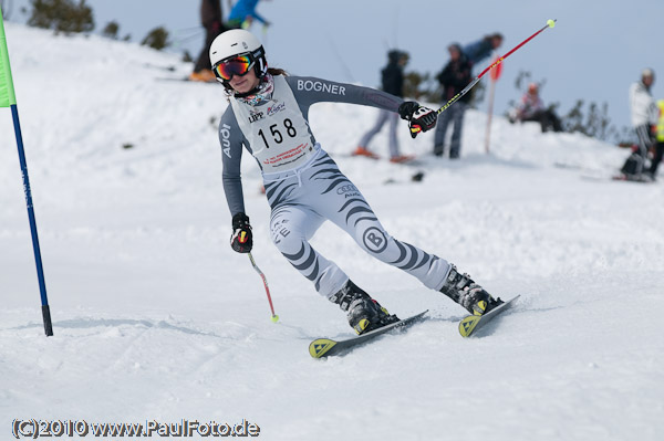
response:
<svg viewBox="0 0 664 441"><path fill-rule="evenodd" d="M459 322L459 334L461 335L461 337L470 337L476 332L478 332L479 329L485 327L489 322L491 322L498 315L500 315L505 311L509 309L517 298L519 298L518 295L516 297L505 302L500 306L495 307L494 309L489 311L488 313L486 313L484 315L469 315L469 316L465 317L461 322ZM390 324L387 326L383 326L378 329L369 332L366 334L359 335L356 337L347 338L344 340L333 340L331 338L317 338L315 340L311 342L311 344L309 345L309 354L313 358L330 357L330 356L334 356L334 355L345 354L350 349L352 349L359 345L363 345L363 344L376 338L377 336L386 334L393 329L402 329L403 330L404 328L408 327L413 323L416 323L416 322L423 319L424 315L427 312L428 312L428 309L425 312L422 312L419 314L416 314L412 317L404 318L402 321Z"/></svg>

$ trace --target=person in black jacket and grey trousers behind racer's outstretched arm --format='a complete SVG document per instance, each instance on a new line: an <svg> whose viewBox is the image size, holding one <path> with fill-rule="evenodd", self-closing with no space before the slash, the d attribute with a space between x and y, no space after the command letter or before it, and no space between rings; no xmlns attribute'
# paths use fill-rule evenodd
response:
<svg viewBox="0 0 664 441"><path fill-rule="evenodd" d="M408 62L408 54L402 51L390 51L387 53L387 65L382 74L383 91L388 94L404 97L404 66ZM381 111L378 113L378 119L376 124L364 134L360 140L360 146L353 151L354 156L367 156L373 159L377 159L378 156L371 151L369 143L371 139L381 132L381 128L385 123L390 122L390 161L392 162L407 162L413 159L413 156L402 155L398 151L398 140L396 137L396 125L398 123L398 115L393 112Z"/></svg>

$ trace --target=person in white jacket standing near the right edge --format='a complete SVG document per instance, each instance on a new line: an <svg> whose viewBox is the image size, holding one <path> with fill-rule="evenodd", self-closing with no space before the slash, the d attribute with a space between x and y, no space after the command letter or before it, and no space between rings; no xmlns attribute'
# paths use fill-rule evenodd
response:
<svg viewBox="0 0 664 441"><path fill-rule="evenodd" d="M630 109L632 126L636 132L639 144L625 160L621 172L626 180L652 180L645 171L647 151L653 145L651 127L657 124L657 106L650 90L655 82L652 69L643 70L641 81L630 86Z"/></svg>

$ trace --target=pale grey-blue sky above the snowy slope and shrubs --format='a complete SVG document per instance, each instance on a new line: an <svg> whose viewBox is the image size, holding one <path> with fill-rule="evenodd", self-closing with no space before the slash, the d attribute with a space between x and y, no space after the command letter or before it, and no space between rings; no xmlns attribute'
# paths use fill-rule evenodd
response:
<svg viewBox="0 0 664 441"><path fill-rule="evenodd" d="M12 3L12 21L24 21L19 8L29 0L3 1ZM196 56L203 45L204 34L196 33L199 0L87 0L87 4L94 11L95 32L115 20L121 34L136 41L164 25L176 43L172 50L186 49ZM228 14L228 0L222 6ZM273 23L267 33L259 25L252 29L263 41L270 64L294 75L369 86L380 86L390 48L411 53L406 70L436 73L448 60L450 42L465 44L499 31L506 38L499 50L504 54L547 19L558 19L554 29L505 62L496 113L518 99L519 71L546 80L542 98L560 102L562 114L579 98L608 103L618 127L630 124L627 88L643 67L655 70L652 92L656 99L664 98L664 0L262 0L258 11ZM485 102L480 109L486 108Z"/></svg>

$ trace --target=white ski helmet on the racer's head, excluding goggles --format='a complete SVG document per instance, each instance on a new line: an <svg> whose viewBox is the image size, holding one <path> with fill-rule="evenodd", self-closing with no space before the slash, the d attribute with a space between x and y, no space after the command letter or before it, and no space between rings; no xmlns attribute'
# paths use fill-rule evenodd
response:
<svg viewBox="0 0 664 441"><path fill-rule="evenodd" d="M231 29L218 35L210 45L212 71L217 81L224 84L226 88L229 88L230 84L228 84L228 81L219 77L215 67L224 61L241 55L249 56L256 76L262 80L268 72L266 51L260 41L251 32L243 29Z"/></svg>

